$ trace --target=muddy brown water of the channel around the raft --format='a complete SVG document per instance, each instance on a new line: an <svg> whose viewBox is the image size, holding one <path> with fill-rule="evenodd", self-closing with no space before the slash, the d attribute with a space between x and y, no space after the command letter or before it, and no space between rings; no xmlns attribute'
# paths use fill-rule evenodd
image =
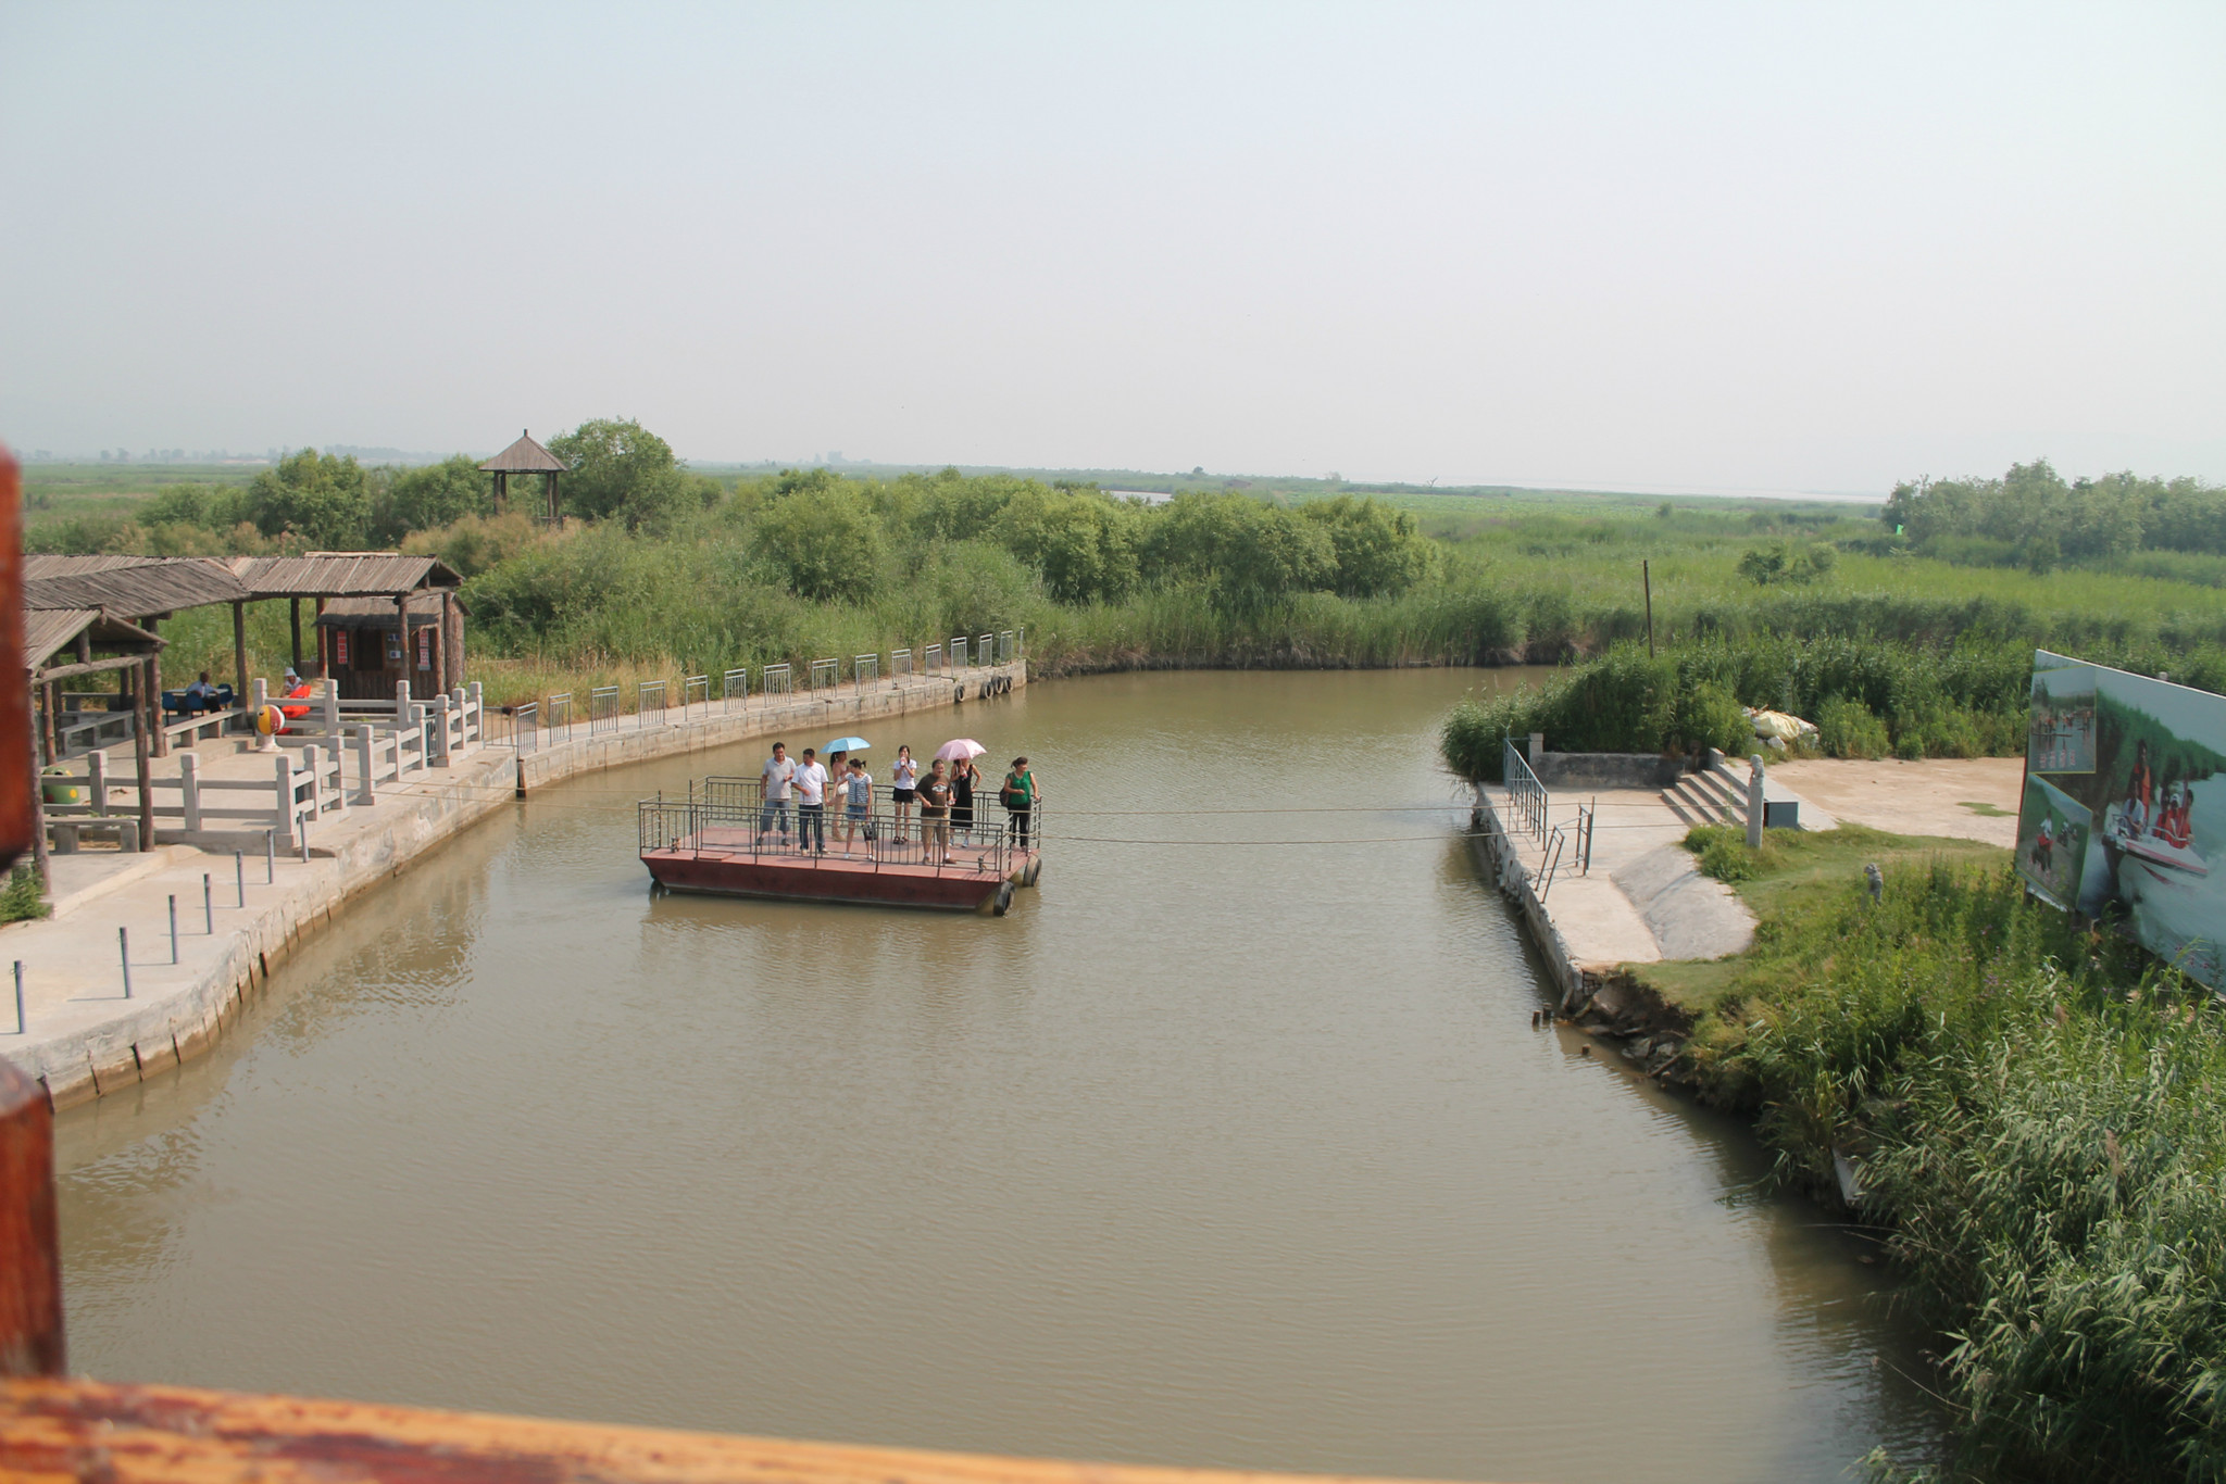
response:
<svg viewBox="0 0 2226 1484"><path fill-rule="evenodd" d="M1514 672L1151 674L868 728L1035 759L1004 919L657 897L550 788L60 1119L111 1379L1451 1480L1937 1446L1868 1246L1536 1032L1431 734ZM790 739L824 741L824 739Z"/></svg>

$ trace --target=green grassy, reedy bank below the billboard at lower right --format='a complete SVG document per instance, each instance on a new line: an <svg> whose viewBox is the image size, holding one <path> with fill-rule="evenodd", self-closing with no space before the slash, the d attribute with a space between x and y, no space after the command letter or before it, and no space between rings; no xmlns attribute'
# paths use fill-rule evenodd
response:
<svg viewBox="0 0 2226 1484"><path fill-rule="evenodd" d="M1643 979L1792 1179L1859 1164L1946 1335L1954 1473L2226 1477L2217 1001L2030 901L2001 850L1850 825L1730 852L1754 948Z"/></svg>

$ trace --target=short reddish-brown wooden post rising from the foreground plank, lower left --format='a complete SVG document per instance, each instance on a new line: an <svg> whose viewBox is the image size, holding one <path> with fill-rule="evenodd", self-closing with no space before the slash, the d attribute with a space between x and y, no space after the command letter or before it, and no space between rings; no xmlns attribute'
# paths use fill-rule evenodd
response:
<svg viewBox="0 0 2226 1484"><path fill-rule="evenodd" d="M62 1375L62 1348L53 1106L0 1061L0 1375Z"/></svg>

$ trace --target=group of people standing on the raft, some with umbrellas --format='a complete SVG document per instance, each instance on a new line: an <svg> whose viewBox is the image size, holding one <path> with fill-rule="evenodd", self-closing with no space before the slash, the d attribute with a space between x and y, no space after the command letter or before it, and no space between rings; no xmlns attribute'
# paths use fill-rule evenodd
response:
<svg viewBox="0 0 2226 1484"><path fill-rule="evenodd" d="M857 739L850 739L857 741ZM951 863L953 839L971 843L984 823L977 819L982 770L971 756L935 759L922 772L913 761L910 743L897 748L890 763L888 828L899 845L919 841L922 863ZM866 759L855 752L830 750L821 761L817 750L806 748L799 756L788 756L788 743L772 743L772 756L759 772L764 803L757 814L757 839L764 845L768 834L779 832L781 848L788 848L790 817L797 825L799 852L824 854L828 832L828 797L841 803L837 828L841 830L841 852L850 854L857 837L864 834L868 850L879 832L875 821L875 776L866 772ZM1042 794L1035 788L1035 772L1026 756L1015 756L1013 768L997 788L997 803L1004 805L1004 832L1020 848L1028 848L1028 825ZM913 814L919 814L917 828ZM988 825L995 828L995 825Z"/></svg>

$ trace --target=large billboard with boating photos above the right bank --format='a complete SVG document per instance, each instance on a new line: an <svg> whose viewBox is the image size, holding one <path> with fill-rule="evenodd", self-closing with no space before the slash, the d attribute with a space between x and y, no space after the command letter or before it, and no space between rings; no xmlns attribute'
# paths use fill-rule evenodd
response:
<svg viewBox="0 0 2226 1484"><path fill-rule="evenodd" d="M2226 988L2226 696L2037 652L2017 870Z"/></svg>

